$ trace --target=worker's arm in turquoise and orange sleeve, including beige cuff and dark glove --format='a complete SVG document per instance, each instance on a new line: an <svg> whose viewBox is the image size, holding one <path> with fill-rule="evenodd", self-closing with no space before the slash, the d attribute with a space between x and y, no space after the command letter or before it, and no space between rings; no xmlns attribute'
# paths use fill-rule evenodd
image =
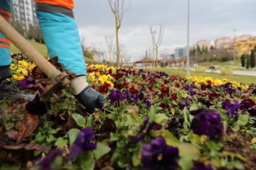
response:
<svg viewBox="0 0 256 170"><path fill-rule="evenodd" d="M76 99L94 112L95 107L102 108L106 103L99 92L86 82L86 63L72 8L73 1L35 0L37 18L50 58L58 57L64 68L76 74L70 88Z"/></svg>

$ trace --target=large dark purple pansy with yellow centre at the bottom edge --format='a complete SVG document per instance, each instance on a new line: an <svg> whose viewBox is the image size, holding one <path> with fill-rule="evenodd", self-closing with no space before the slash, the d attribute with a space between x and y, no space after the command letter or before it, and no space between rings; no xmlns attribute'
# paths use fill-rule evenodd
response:
<svg viewBox="0 0 256 170"><path fill-rule="evenodd" d="M143 144L141 155L143 166L148 170L176 170L178 168L178 148L167 146L162 137L157 137L148 144Z"/></svg>

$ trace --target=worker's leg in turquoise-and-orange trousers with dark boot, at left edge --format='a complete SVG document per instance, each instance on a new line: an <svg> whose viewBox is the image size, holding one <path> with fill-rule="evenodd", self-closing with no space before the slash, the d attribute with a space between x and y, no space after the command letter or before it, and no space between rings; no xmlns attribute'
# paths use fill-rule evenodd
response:
<svg viewBox="0 0 256 170"><path fill-rule="evenodd" d="M0 15L7 20L8 23L11 22L11 12L11 0L1 0ZM4 97L11 99L25 98L27 101L31 101L34 95L21 92L13 85L12 81L7 80L12 78L12 72L10 70L12 58L10 55L10 41L0 32L0 99Z"/></svg>

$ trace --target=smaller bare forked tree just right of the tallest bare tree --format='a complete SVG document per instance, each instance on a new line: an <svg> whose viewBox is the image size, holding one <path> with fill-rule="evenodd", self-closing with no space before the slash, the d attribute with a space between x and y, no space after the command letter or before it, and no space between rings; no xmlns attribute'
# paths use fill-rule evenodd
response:
<svg viewBox="0 0 256 170"><path fill-rule="evenodd" d="M159 48L159 46L161 45L161 42L162 42L162 36L164 35L165 26L163 26L163 25L159 26L159 36L158 36L157 42L156 42L156 39L154 37L155 33L157 32L157 28L155 28L154 31L153 31L153 26L149 26L149 29L150 29L150 33L151 33L152 40L153 40L154 50L156 50L156 58L157 58L156 65L157 65L157 68L158 68L158 48Z"/></svg>

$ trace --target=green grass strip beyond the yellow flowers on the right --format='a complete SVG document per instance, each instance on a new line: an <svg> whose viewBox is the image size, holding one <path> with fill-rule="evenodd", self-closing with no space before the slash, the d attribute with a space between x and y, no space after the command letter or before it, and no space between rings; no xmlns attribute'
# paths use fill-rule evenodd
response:
<svg viewBox="0 0 256 170"><path fill-rule="evenodd" d="M151 69L151 71L156 71L156 69ZM159 68L158 69L159 72L166 72L167 74L171 74L171 75L178 75L181 77L185 77L187 72L186 71L182 71L182 70L174 70L174 69L165 69L165 68ZM224 79L226 78L227 80L231 80L231 81L236 81L236 82L241 82L245 85L249 85L252 83L256 82L256 77L252 77L252 76L222 76L220 74L216 74L216 73L196 73L196 72L191 72L190 71L190 75L191 76L197 76L197 77L212 77L214 79Z"/></svg>

